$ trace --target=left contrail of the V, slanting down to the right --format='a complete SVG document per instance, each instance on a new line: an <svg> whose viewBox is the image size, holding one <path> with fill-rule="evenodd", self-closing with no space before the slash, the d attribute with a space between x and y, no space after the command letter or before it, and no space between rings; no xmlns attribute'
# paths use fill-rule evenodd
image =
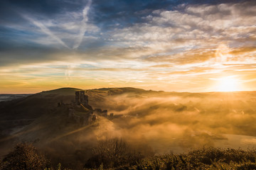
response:
<svg viewBox="0 0 256 170"><path fill-rule="evenodd" d="M61 45L63 45L64 47L67 47L68 49L70 49L70 47L68 47L68 45L65 45L65 42L63 42L62 40L60 40L60 38L58 38L56 35L54 35L48 28L46 28L46 26L43 25L43 23L40 23L40 22L36 21L35 19L33 19L33 18L29 17L29 16L26 16L24 14L21 14L21 16L23 16L23 18L26 18L26 20L30 21L35 26L41 28L43 33L46 33L51 38L53 38L54 40L58 41Z"/></svg>

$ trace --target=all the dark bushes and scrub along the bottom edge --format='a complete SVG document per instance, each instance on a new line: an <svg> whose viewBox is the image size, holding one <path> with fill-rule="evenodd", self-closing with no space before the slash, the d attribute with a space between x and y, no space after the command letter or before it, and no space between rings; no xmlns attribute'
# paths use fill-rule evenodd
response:
<svg viewBox="0 0 256 170"><path fill-rule="evenodd" d="M123 140L101 140L94 154L85 160L82 169L256 169L256 149L194 149L187 154L151 154L134 150ZM70 169L62 162L51 164L50 159L36 147L19 143L1 160L1 170ZM72 168L71 168L72 169Z"/></svg>

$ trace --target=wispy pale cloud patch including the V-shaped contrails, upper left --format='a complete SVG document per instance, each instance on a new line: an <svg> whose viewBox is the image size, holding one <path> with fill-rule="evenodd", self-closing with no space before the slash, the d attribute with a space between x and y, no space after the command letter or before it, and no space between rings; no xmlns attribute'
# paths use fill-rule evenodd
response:
<svg viewBox="0 0 256 170"><path fill-rule="evenodd" d="M27 21L33 23L34 26L41 29L43 33L48 35L48 38L39 38L32 40L33 42L40 43L42 45L52 44L49 41L49 38L58 42L63 47L70 49L69 46L73 47L73 50L80 47L83 38L85 37L85 32L89 31L90 33L98 30L97 26L94 26L88 22L88 11L92 0L89 0L81 12L66 12L60 14L57 18L48 19L48 21L42 20L38 21L36 18L28 16L27 13L20 13L23 18ZM82 18L82 21L79 19ZM55 30L56 33L53 32ZM79 31L79 32L78 32ZM75 40L74 40L75 37ZM89 36L93 38L92 35ZM63 41L65 39L65 42Z"/></svg>

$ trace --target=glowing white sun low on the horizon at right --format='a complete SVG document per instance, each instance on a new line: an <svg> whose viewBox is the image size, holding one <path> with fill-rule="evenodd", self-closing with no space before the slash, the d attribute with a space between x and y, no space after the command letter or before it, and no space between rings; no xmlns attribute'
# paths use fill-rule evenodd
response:
<svg viewBox="0 0 256 170"><path fill-rule="evenodd" d="M223 77L219 79L218 91L238 91L238 79L235 77Z"/></svg>

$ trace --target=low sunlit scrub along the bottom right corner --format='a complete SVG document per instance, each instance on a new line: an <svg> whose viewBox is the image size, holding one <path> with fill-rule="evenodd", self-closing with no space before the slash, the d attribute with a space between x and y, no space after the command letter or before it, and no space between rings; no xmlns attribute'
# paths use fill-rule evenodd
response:
<svg viewBox="0 0 256 170"><path fill-rule="evenodd" d="M256 169L256 150L203 148L143 159L130 169Z"/></svg>

